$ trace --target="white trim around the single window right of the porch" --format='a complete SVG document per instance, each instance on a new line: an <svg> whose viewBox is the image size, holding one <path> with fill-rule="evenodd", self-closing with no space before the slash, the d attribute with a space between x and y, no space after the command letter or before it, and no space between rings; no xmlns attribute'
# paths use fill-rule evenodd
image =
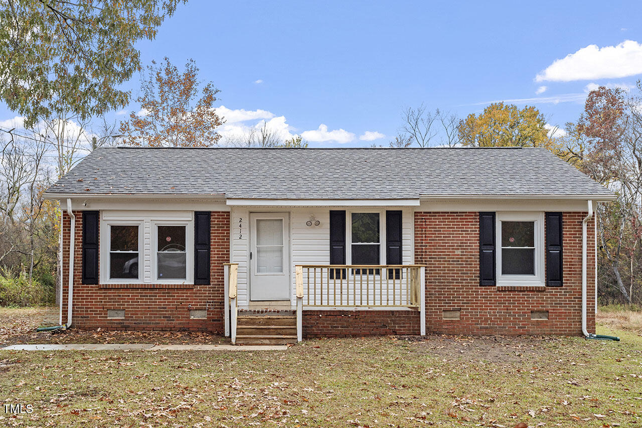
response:
<svg viewBox="0 0 642 428"><path fill-rule="evenodd" d="M501 222L532 221L535 222L535 274L503 275L501 274ZM495 249L497 285L544 285L544 212L498 212L495 216Z"/></svg>

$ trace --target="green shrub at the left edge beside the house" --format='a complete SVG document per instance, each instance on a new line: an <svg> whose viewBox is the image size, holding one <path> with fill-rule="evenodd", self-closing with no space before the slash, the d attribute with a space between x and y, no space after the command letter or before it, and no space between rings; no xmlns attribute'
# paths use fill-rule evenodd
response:
<svg viewBox="0 0 642 428"><path fill-rule="evenodd" d="M51 287L45 287L35 278L29 283L29 278L24 273L14 276L6 271L2 272L0 274L0 306L25 307L50 303L52 292L49 289Z"/></svg>

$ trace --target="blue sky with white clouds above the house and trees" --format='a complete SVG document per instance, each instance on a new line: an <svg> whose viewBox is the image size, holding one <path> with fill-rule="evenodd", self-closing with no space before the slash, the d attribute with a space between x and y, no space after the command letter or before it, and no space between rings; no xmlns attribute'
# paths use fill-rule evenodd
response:
<svg viewBox="0 0 642 428"><path fill-rule="evenodd" d="M641 16L639 1L192 0L139 48L144 64L193 58L221 89L226 132L268 120L313 147L358 147L385 145L421 103L463 117L517 100L563 126L587 87L642 77Z"/></svg>

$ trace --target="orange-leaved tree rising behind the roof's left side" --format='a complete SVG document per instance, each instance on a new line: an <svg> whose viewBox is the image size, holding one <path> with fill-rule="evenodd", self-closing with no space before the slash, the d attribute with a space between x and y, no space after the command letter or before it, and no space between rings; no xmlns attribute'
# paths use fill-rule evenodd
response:
<svg viewBox="0 0 642 428"><path fill-rule="evenodd" d="M221 138L216 131L225 120L214 111L220 91L209 82L200 90L198 67L187 61L184 71L165 57L152 61L141 79L141 111L121 122L123 143L149 147L212 147Z"/></svg>

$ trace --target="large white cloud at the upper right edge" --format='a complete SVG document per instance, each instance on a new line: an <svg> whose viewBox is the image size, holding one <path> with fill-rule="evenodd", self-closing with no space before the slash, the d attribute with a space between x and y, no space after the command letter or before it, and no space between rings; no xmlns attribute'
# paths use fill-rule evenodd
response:
<svg viewBox="0 0 642 428"><path fill-rule="evenodd" d="M617 46L590 44L565 58L553 61L535 76L536 82L571 82L600 78L620 78L642 73L642 44L625 40Z"/></svg>

